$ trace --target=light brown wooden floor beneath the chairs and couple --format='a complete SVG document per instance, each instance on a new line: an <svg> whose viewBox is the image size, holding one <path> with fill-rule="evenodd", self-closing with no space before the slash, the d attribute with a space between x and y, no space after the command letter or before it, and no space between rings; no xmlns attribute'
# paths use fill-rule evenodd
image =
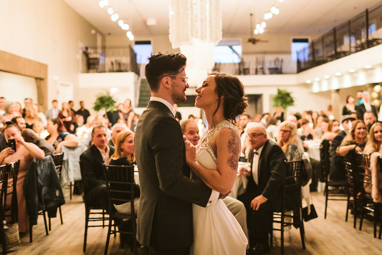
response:
<svg viewBox="0 0 382 255"><path fill-rule="evenodd" d="M292 228L285 232L285 254L304 255L381 255L382 240L373 237L372 222L364 220L363 229L353 228L353 216L345 222L346 201L329 201L327 218L324 219L324 196L312 193L313 203L319 218L304 223L306 250L301 247L299 230ZM12 248L9 254L82 254L84 240L84 204L82 198L67 198L62 206L64 224L60 219L52 219L52 231L45 236L44 221L39 216L38 225L34 226L33 242L29 243L29 234L20 236L21 245ZM359 223L359 219L358 219ZM358 224L357 224L358 227ZM89 228L85 254L104 254L107 228ZM133 254L129 247L119 249L119 238L110 238L108 254ZM139 248L139 254L149 254L146 248ZM274 247L271 255L280 254L280 232L274 231Z"/></svg>

